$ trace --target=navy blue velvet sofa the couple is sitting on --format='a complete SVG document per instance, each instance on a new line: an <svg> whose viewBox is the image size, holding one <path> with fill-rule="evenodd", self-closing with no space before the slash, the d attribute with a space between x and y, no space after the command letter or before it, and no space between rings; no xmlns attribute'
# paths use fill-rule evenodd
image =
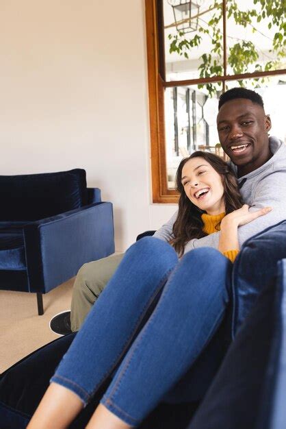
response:
<svg viewBox="0 0 286 429"><path fill-rule="evenodd" d="M220 330L194 365L199 401L161 403L141 429L285 429L286 395L286 221L250 238L233 267L233 342L213 364L209 380L200 372ZM0 421L22 429L49 385L75 334L57 339L5 371L0 378ZM70 428L81 429L107 384Z"/></svg>

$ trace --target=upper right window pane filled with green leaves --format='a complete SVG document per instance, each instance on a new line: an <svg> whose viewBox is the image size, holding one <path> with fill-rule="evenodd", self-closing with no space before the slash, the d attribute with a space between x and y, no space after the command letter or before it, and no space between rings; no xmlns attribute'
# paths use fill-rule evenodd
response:
<svg viewBox="0 0 286 429"><path fill-rule="evenodd" d="M274 2L226 2L227 74L285 69L285 2L271 3Z"/></svg>

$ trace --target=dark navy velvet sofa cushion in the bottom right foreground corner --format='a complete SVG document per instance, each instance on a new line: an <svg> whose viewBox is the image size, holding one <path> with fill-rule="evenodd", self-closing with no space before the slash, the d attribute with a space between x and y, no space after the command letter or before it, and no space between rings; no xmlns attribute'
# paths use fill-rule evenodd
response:
<svg viewBox="0 0 286 429"><path fill-rule="evenodd" d="M277 272L277 271L276 271ZM263 290L188 429L285 429L286 260Z"/></svg>

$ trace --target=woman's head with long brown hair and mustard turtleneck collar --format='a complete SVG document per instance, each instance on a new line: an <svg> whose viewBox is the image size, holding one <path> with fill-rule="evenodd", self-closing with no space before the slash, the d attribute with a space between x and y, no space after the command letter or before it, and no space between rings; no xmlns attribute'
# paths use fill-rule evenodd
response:
<svg viewBox="0 0 286 429"><path fill-rule="evenodd" d="M176 182L179 210L170 244L182 256L188 242L220 230L222 218L241 208L243 202L231 167L209 152L196 151L183 159ZM160 230L156 234L159 236Z"/></svg>

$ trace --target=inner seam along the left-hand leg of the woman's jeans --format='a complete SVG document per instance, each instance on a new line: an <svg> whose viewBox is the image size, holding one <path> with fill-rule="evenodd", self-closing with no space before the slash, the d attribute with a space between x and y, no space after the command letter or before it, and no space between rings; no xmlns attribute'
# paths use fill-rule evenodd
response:
<svg viewBox="0 0 286 429"><path fill-rule="evenodd" d="M131 343L131 340L133 339L133 336L136 332L136 330L138 330L140 323L142 322L142 319L144 318L144 316L146 315L146 311L148 310L148 308L151 306L152 302L154 301L159 289L161 289L161 287L164 285L164 283L166 283L170 272L173 269L169 269L163 276L163 278L161 279L161 281L159 282L157 288L155 289L153 295L150 297L150 299L148 300L148 303L146 304L146 306L144 306L144 308L142 309L142 312L139 315L139 319L135 324L135 327L133 328L131 334L129 335L129 338L127 339L127 341L125 342L125 344L122 346L122 350L121 352L118 354L118 356L116 356L116 358L114 358L114 361L111 365L111 367L108 369L108 371L103 374L101 380L99 380L99 382L96 384L96 386L94 387L92 393L90 393L89 395L89 399L94 395L94 393L96 392L97 389L99 389L99 386L106 380L107 376L109 376L110 373L112 373L118 363L118 360L120 360L122 358L122 356L125 354L128 345ZM152 317L152 315L151 315Z"/></svg>

